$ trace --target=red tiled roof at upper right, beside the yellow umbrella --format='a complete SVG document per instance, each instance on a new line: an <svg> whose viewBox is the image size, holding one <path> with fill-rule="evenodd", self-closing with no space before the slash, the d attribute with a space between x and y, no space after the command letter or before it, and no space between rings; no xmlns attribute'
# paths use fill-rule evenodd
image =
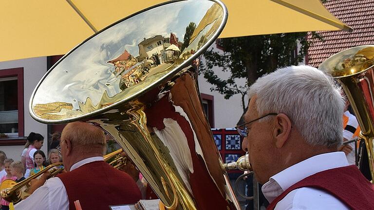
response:
<svg viewBox="0 0 374 210"><path fill-rule="evenodd" d="M308 49L308 65L318 67L326 58L342 50L374 44L374 0L328 0L325 7L354 29L318 32L324 41L316 41ZM311 39L309 33L308 39Z"/></svg>

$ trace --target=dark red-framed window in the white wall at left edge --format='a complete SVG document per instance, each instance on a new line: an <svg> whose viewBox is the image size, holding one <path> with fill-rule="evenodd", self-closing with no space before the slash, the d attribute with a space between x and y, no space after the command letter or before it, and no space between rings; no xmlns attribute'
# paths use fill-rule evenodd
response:
<svg viewBox="0 0 374 210"><path fill-rule="evenodd" d="M23 68L0 70L0 119L0 145L23 141Z"/></svg>

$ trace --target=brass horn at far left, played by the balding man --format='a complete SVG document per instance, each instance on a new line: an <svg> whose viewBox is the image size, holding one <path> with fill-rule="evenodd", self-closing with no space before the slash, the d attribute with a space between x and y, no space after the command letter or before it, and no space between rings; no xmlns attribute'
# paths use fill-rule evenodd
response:
<svg viewBox="0 0 374 210"><path fill-rule="evenodd" d="M62 166L63 164L61 162L53 163L47 167L45 167L43 170L39 171L35 175L31 175L27 179L21 181L21 182L16 182L12 179L5 179L4 181L1 182L0 185L0 194L1 197L8 201L8 202L13 202L17 203L21 199L25 199L28 197L30 194L28 193L29 188L30 188L30 181L33 180L34 178L37 178L39 175L42 175L43 173L49 171L50 177L53 177L64 170L63 168L57 168L57 166Z"/></svg>

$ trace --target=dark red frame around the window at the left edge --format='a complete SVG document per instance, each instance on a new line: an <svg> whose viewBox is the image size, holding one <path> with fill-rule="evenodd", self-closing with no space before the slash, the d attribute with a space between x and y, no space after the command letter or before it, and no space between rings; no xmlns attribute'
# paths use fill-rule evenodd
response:
<svg viewBox="0 0 374 210"><path fill-rule="evenodd" d="M26 142L25 137L24 137L23 68L0 70L0 78L6 78L6 77L17 77L18 137L0 139L0 146L23 145Z"/></svg>

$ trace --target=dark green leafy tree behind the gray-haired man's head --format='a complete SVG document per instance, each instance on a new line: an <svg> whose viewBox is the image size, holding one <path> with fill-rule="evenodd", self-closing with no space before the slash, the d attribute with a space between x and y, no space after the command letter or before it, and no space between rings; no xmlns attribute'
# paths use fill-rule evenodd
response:
<svg viewBox="0 0 374 210"><path fill-rule="evenodd" d="M312 33L312 36L322 39L317 33ZM243 112L248 86L266 73L281 67L298 65L311 45L306 32L224 38L217 41L223 52L207 50L200 73L213 85L210 90L218 91L225 99L241 94ZM299 51L297 43L300 46ZM229 71L230 76L227 79L219 78L213 71L215 66ZM246 79L245 86L236 83L239 78Z"/></svg>

